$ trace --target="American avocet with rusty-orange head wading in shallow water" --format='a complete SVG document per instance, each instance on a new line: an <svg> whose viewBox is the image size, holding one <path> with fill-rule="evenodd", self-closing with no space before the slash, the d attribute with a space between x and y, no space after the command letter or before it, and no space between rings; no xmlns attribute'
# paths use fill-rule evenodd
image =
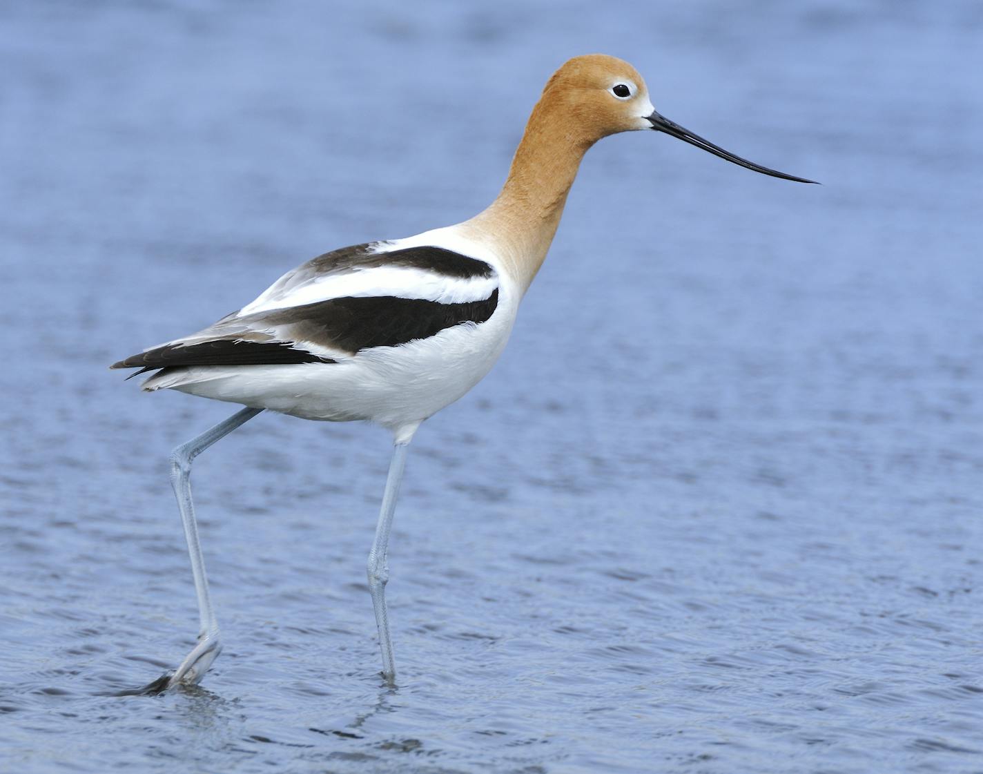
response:
<svg viewBox="0 0 983 774"><path fill-rule="evenodd" d="M501 193L483 212L416 236L325 253L213 326L111 366L156 370L143 385L147 391L179 389L246 406L171 454L201 633L159 686L198 683L220 648L192 505L192 460L264 409L329 422L369 420L393 434L368 567L382 673L392 680L383 594L407 446L425 419L492 368L546 258L584 153L607 135L643 129L756 172L813 182L740 158L664 118L627 62L579 56L549 79Z"/></svg>

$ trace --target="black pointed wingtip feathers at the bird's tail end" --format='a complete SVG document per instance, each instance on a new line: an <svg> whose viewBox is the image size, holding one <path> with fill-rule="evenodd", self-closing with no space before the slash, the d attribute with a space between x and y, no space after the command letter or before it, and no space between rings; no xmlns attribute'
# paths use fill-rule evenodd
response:
<svg viewBox="0 0 983 774"><path fill-rule="evenodd" d="M257 366L289 363L335 363L289 343L239 341L216 338L201 344L167 344L126 360L113 363L110 368L140 368L152 371L169 366ZM143 372L140 372L143 373ZM136 375L134 375L136 376Z"/></svg>

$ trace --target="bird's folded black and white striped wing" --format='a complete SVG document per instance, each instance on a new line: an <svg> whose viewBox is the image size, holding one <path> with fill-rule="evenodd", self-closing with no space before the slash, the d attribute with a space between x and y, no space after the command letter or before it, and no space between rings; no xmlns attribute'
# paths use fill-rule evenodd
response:
<svg viewBox="0 0 983 774"><path fill-rule="evenodd" d="M497 307L498 287L490 264L452 250L355 245L284 274L213 326L110 368L334 363L484 323Z"/></svg>

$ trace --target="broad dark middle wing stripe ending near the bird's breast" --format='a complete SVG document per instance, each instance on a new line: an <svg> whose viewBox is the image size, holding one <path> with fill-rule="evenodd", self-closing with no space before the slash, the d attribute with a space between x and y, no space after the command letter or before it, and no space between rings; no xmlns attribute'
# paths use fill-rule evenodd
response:
<svg viewBox="0 0 983 774"><path fill-rule="evenodd" d="M498 288L483 301L440 304L395 296L345 297L262 314L267 325L287 326L295 341L358 352L429 338L462 323L484 323L498 306Z"/></svg>

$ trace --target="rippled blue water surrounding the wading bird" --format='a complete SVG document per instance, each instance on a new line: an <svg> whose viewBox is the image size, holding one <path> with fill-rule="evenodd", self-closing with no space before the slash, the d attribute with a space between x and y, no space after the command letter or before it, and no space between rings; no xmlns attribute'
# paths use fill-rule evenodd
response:
<svg viewBox="0 0 983 774"><path fill-rule="evenodd" d="M983 771L983 12L945 4L0 5L0 770ZM354 4L353 4L354 6ZM492 375L411 449L105 366L324 250L485 207L549 73L593 149Z"/></svg>

